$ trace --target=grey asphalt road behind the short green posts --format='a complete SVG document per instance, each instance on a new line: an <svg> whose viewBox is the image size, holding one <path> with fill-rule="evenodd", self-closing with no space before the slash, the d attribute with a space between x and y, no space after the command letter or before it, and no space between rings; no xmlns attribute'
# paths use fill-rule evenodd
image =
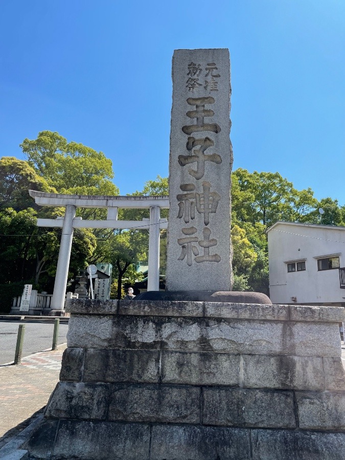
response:
<svg viewBox="0 0 345 460"><path fill-rule="evenodd" d="M14 360L18 325L25 323L22 356L52 347L54 321L0 321L0 365ZM60 324L58 344L66 342L68 324Z"/></svg>

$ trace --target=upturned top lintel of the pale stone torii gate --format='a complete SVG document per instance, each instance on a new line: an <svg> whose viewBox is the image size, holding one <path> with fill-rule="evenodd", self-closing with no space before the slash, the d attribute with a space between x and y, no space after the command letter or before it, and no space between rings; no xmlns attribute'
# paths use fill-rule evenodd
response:
<svg viewBox="0 0 345 460"><path fill-rule="evenodd" d="M64 193L45 193L29 190L40 206L66 206L77 208L126 208L141 209L159 206L169 208L169 196L111 196L111 195L67 195Z"/></svg>

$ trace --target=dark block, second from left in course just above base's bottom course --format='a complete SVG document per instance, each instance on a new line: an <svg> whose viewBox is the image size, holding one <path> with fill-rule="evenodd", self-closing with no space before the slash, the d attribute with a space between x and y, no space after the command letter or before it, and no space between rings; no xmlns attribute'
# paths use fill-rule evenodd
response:
<svg viewBox="0 0 345 460"><path fill-rule="evenodd" d="M126 422L200 423L200 388L112 385L108 419Z"/></svg>

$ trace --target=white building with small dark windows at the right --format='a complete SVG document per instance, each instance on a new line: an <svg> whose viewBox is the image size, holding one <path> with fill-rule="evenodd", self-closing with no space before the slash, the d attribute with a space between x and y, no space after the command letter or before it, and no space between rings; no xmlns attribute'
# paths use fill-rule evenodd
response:
<svg viewBox="0 0 345 460"><path fill-rule="evenodd" d="M345 306L345 227L277 222L266 233L273 304Z"/></svg>

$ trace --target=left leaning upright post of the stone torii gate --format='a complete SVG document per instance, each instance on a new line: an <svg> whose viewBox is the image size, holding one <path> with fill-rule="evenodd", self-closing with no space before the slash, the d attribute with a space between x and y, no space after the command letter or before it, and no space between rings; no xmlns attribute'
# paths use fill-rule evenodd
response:
<svg viewBox="0 0 345 460"><path fill-rule="evenodd" d="M70 265L73 240L73 219L76 215L76 206L66 205L63 219L59 258L56 267L54 292L51 302L52 310L63 310L67 286L68 266Z"/></svg>

